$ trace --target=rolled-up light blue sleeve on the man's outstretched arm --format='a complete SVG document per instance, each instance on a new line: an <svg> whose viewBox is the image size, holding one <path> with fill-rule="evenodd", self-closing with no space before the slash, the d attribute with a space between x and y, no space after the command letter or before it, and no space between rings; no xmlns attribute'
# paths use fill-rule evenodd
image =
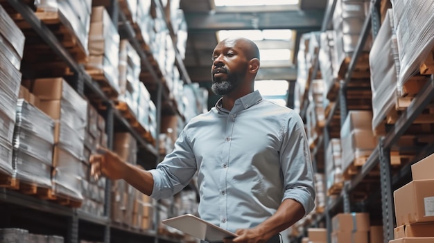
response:
<svg viewBox="0 0 434 243"><path fill-rule="evenodd" d="M162 199L180 192L189 184L196 169L196 159L183 130L175 141L173 152L167 154L157 168L150 170L154 179L153 193L150 196Z"/></svg>

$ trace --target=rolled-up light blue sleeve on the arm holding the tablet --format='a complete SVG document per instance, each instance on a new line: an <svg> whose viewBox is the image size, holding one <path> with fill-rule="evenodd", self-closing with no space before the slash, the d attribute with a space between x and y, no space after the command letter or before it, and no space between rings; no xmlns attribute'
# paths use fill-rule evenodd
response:
<svg viewBox="0 0 434 243"><path fill-rule="evenodd" d="M284 176L284 199L294 199L303 205L305 215L315 206L315 186L311 152L303 121L291 112L287 129L283 129L280 163Z"/></svg>

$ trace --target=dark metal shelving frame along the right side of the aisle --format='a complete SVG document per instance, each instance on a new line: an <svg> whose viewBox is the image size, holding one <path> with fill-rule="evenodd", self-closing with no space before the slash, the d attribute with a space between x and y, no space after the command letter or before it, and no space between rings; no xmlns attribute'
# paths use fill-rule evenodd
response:
<svg viewBox="0 0 434 243"><path fill-rule="evenodd" d="M371 0L370 12L368 13L365 23L363 25L363 30L360 38L358 39L358 44L356 45L355 51L351 56L351 62L349 62L348 69L345 73L345 78L340 80L339 94L338 98L336 98L336 102L331 107L331 111L326 118L326 125L324 127L324 132L320 136L316 147L313 148L312 154L316 156L318 152L324 147L324 152L327 151L327 145L329 144L329 131L328 127L333 120L333 117L336 116L337 112L340 112L340 123L342 124L347 117L347 96L346 89L349 80L351 80L354 68L356 67L356 63L358 58L361 55L363 50L363 46L365 46L365 42L367 40L368 35L372 35L373 39L376 37L376 34L379 32L380 28L380 4L381 1L385 0ZM326 14L324 15L324 22L322 25L322 32L328 29L330 24L331 16L333 15L333 11L336 6L336 0L330 0L326 9ZM313 68L313 74L311 77L315 77L318 72L318 52L315 52L314 59L316 60L315 66ZM310 82L311 80L308 80ZM309 86L311 89L311 86ZM307 92L307 91L306 91ZM392 145L395 145L399 138L406 132L408 127L412 125L412 123L416 120L416 118L422 114L422 111L427 107L428 103L434 99L434 75L431 75L431 81L427 82L425 87L421 89L421 91L417 94L414 100L411 102L410 106L403 111L401 116L399 116L397 122L388 129L385 136L381 136L379 138L379 145L375 148L375 150L370 154L369 158L362 166L360 172L356 174L354 178L349 181L345 181L344 187L340 192L340 195L337 195L335 199L326 200L326 208L322 215L317 215L313 222L311 223L312 227L318 226L320 222L325 222L327 225L328 232L328 242L331 242L331 217L336 215L336 213L350 213L351 210L357 209L356 211L366 211L367 206L370 204L379 205L381 203L382 210L382 223L383 223L383 236L384 242L387 243L389 240L393 240L393 229L395 224L394 219L394 200L393 200L393 191L402 186L405 183L408 183L411 180L411 172L410 166L423 159L425 156L432 154L434 152L434 144L430 143L425 147L422 147L419 150L419 154L415 156L413 161L407 163L403 167L399 169L397 172L392 172L390 165L390 148ZM307 102L309 100L304 100L304 109L301 112L302 117L306 116ZM374 170L374 168L380 168L380 176L379 178L374 178L374 183L379 184L381 188L371 193L362 204L357 203L354 204L351 202L349 194L356 190L358 186L361 186L363 183L366 183L365 180L370 177L370 172ZM380 199L380 201L379 201ZM353 205L351 205L351 203Z"/></svg>

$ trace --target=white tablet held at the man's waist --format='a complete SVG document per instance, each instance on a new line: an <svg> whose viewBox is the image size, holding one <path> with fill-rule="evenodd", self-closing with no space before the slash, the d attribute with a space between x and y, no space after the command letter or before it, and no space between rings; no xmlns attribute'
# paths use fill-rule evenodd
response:
<svg viewBox="0 0 434 243"><path fill-rule="evenodd" d="M223 242L223 238L237 236L191 214L164 219L162 223L207 242Z"/></svg>

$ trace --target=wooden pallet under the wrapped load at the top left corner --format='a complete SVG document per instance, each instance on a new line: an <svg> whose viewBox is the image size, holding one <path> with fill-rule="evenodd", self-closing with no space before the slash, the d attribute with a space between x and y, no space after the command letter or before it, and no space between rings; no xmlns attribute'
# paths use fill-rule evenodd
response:
<svg viewBox="0 0 434 243"><path fill-rule="evenodd" d="M78 63L87 62L87 46L83 46L83 43L80 42L80 39L76 36L76 33L74 33L68 19L62 15L62 12L44 12L43 9L37 9L35 16L51 29L53 34L58 37L62 46L67 49L74 60ZM32 29L30 24L24 20L21 14L17 13L12 15L12 19L15 20L17 26L22 30Z"/></svg>

